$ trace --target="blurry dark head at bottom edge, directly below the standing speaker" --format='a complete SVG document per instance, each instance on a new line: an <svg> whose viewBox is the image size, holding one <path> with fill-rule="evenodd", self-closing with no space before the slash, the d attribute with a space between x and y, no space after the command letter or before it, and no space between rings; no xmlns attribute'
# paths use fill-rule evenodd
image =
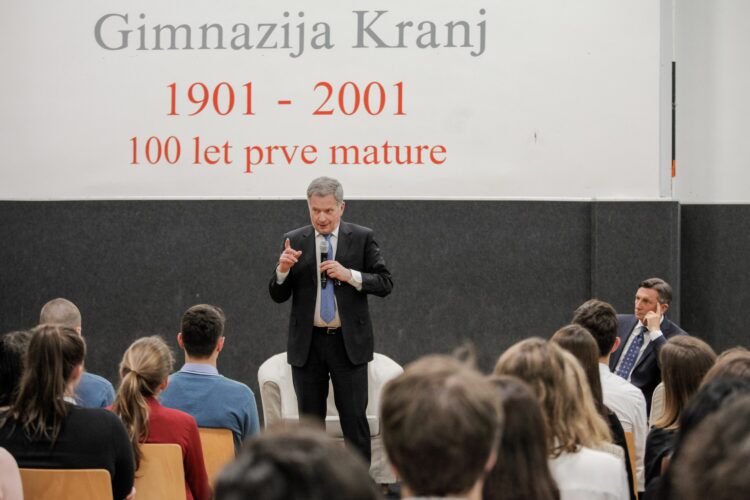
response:
<svg viewBox="0 0 750 500"><path fill-rule="evenodd" d="M216 481L216 500L376 500L362 459L319 429L270 429L245 443Z"/></svg>

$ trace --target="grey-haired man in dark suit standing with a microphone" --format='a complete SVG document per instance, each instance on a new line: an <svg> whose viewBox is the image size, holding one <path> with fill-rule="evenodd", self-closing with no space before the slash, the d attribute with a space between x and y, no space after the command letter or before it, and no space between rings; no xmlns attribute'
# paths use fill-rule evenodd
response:
<svg viewBox="0 0 750 500"><path fill-rule="evenodd" d="M385 297L393 281L372 230L341 220L344 190L337 180L313 180L307 205L312 225L284 235L269 291L276 302L292 298L287 358L300 414L325 420L330 376L344 437L369 461L367 296Z"/></svg>

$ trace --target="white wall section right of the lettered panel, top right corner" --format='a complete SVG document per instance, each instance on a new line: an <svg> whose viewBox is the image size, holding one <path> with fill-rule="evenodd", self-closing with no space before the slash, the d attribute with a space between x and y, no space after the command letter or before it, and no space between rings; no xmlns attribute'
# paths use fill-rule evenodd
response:
<svg viewBox="0 0 750 500"><path fill-rule="evenodd" d="M675 1L675 198L749 203L750 2Z"/></svg>

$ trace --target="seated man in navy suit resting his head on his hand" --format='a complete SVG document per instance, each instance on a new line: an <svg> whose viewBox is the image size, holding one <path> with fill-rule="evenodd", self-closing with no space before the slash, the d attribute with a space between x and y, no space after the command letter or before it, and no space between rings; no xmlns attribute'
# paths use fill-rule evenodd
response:
<svg viewBox="0 0 750 500"><path fill-rule="evenodd" d="M617 315L620 346L609 358L609 367L643 391L649 413L651 396L661 382L659 351L675 335L687 335L666 317L671 301L669 283L660 278L649 278L638 285L635 314Z"/></svg>

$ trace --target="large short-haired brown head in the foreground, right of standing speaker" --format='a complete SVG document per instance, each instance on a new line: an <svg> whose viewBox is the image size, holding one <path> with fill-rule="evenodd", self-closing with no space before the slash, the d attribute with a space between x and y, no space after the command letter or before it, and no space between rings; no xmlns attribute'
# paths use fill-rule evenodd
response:
<svg viewBox="0 0 750 500"><path fill-rule="evenodd" d="M502 413L485 377L448 356L409 364L383 389L383 442L415 496L469 492L496 449Z"/></svg>

